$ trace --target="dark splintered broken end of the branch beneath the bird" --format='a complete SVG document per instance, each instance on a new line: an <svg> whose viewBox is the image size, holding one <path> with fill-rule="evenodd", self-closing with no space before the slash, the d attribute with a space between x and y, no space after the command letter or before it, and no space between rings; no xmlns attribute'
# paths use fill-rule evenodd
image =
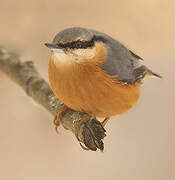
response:
<svg viewBox="0 0 175 180"><path fill-rule="evenodd" d="M94 116L89 115L81 121L76 137L84 150L96 151L100 149L103 151L104 144L102 140L106 136L105 132L106 130L102 124Z"/></svg>

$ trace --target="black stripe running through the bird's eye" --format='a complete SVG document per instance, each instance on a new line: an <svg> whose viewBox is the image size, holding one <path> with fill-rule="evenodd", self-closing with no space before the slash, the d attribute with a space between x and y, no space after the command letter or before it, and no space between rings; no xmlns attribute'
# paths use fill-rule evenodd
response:
<svg viewBox="0 0 175 180"><path fill-rule="evenodd" d="M105 42L106 40L100 36L94 36L91 41L81 41L81 40L77 40L77 41L72 41L72 42L68 42L68 43L57 43L58 47L61 48L70 48L70 49L86 49L86 48L90 48L94 46L94 43L96 41L102 41Z"/></svg>

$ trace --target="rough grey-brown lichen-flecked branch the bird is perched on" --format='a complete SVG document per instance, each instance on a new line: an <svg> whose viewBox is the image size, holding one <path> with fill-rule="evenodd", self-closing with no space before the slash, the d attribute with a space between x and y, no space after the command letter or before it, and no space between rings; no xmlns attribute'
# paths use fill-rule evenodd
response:
<svg viewBox="0 0 175 180"><path fill-rule="evenodd" d="M32 61L21 62L18 55L0 47L0 70L54 116L61 111L63 103L55 97ZM88 149L103 151L105 130L99 121L92 119L87 113L68 109L61 118L61 124L72 131Z"/></svg>

